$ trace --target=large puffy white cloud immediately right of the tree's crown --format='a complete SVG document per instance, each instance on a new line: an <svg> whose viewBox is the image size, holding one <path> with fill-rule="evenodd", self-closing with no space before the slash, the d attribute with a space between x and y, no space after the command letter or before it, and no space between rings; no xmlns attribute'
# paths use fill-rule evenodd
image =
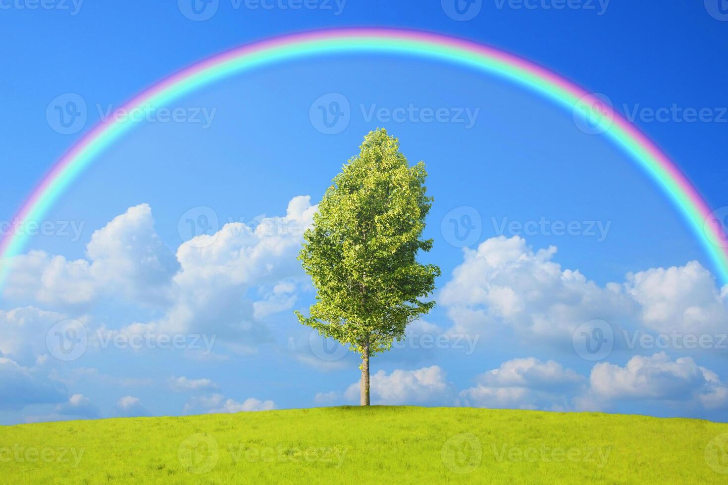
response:
<svg viewBox="0 0 728 485"><path fill-rule="evenodd" d="M438 297L454 321L452 332L505 324L523 335L568 341L579 324L624 315L631 305L620 286L601 288L579 271L562 270L551 261L554 246L534 252L518 236L499 236L463 251L464 261Z"/></svg>

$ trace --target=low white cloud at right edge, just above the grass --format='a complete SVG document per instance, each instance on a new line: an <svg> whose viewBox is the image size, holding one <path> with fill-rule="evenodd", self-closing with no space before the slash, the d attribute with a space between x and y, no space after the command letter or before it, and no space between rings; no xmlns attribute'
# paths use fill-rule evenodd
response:
<svg viewBox="0 0 728 485"><path fill-rule="evenodd" d="M606 401L644 399L672 401L706 409L728 405L728 388L719 377L692 358L675 361L664 353L634 356L620 367L602 362L593 367L591 393Z"/></svg>

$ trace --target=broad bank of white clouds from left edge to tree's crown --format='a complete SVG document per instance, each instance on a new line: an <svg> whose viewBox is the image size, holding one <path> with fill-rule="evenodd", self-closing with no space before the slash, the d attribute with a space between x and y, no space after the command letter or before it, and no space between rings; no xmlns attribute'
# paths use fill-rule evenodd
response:
<svg viewBox="0 0 728 485"><path fill-rule="evenodd" d="M114 330L215 334L228 350L250 353L272 341L266 318L292 308L306 281L296 253L316 211L309 196L297 196L282 217L226 224L212 236L182 244L175 254L155 232L149 205L140 204L92 234L88 260L67 261L44 252L15 258L6 296L51 307L90 304L101 297L154 305L156 318ZM7 317L0 314L0 320ZM11 345L16 351L15 340L4 347Z"/></svg>

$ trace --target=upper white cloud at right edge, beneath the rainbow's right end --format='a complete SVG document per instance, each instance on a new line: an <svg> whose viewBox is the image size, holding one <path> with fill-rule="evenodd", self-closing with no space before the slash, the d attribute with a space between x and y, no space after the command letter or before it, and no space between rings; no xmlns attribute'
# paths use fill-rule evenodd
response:
<svg viewBox="0 0 728 485"><path fill-rule="evenodd" d="M728 286L719 292L697 261L629 273L625 288L641 305L644 325L658 332L728 332Z"/></svg>

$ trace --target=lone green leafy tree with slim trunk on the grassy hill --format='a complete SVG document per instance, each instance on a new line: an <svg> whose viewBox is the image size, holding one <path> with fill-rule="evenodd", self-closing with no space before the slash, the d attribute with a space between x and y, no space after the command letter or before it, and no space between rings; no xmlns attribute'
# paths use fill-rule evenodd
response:
<svg viewBox="0 0 728 485"><path fill-rule="evenodd" d="M369 358L392 348L405 327L429 312L425 300L440 268L422 265L417 253L432 207L424 163L410 167L399 141L377 129L364 137L358 156L333 179L304 233L298 259L317 289L301 324L348 344L360 354L361 404L369 405Z"/></svg>

